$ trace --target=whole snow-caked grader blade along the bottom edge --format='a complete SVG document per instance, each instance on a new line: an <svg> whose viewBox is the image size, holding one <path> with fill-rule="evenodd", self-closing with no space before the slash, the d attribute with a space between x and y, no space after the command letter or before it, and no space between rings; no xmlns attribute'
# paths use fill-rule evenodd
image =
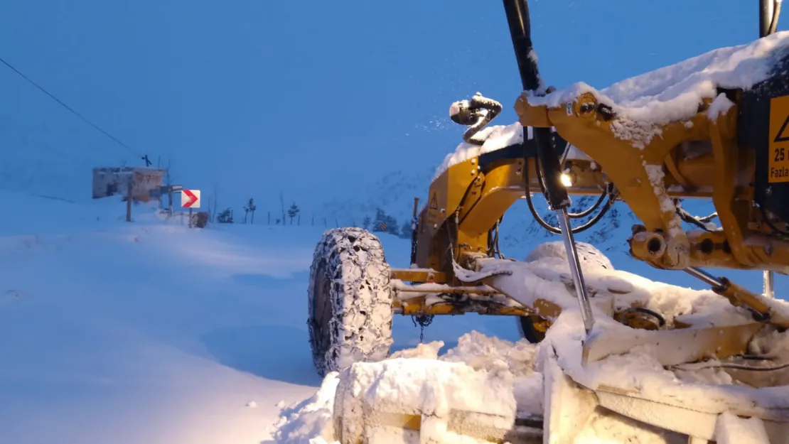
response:
<svg viewBox="0 0 789 444"><path fill-rule="evenodd" d="M769 390L736 394L739 405L716 386L696 386L687 399L654 397L616 386L589 390L563 371L554 350L543 359L543 386L537 395L544 397L544 418L518 417L516 405L502 410L506 401L484 401L506 397L504 386L481 383L468 390L456 386L451 375L462 371L453 371L451 363L428 364L422 378L402 372L409 366L424 369L427 360L392 360L388 369L380 363L353 364L339 376L334 438L341 444L460 442L461 437L463 442L473 438L511 444L789 442L789 410L768 401ZM389 386L387 372L413 378L406 384L413 390L402 390L402 384L398 393L382 390ZM471 399L481 402L473 409L458 408Z"/></svg>

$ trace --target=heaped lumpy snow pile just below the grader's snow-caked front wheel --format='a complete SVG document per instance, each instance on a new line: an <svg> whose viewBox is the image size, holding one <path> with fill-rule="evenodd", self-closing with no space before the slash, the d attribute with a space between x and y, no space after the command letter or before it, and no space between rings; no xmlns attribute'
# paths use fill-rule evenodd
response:
<svg viewBox="0 0 789 444"><path fill-rule="evenodd" d="M282 410L276 442L327 442L336 436L331 419L335 408L344 409L346 424L364 424L366 432L379 438L381 434L392 438L391 434L403 433L386 427L380 418L382 412L424 415L431 421L423 419L422 438L429 435L436 442L484 442L451 430L471 425L453 424L453 412L474 412L475 423L488 420L488 427L503 430L512 427L516 416L541 416L541 397L535 394L540 393L542 375L532 368L535 345L488 338L473 331L439 356L442 347L443 341L435 341L394 353L378 363L353 364L342 375L346 386L339 389L337 374L328 375L318 394ZM340 396L332 405L327 396L334 396L335 390L351 390L353 396ZM351 426L346 428L346 434L361 433Z"/></svg>

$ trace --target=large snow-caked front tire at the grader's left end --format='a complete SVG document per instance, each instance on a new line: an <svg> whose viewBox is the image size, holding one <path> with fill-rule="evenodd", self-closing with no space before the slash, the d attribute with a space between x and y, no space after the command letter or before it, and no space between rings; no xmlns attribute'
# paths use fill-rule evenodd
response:
<svg viewBox="0 0 789 444"><path fill-rule="evenodd" d="M323 233L310 267L309 343L320 376L389 356L390 267L378 237L361 228Z"/></svg>

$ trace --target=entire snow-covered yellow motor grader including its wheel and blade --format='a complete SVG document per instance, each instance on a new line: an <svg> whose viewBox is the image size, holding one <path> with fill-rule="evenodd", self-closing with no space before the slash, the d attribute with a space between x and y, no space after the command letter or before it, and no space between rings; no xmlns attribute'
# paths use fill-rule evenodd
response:
<svg viewBox="0 0 789 444"><path fill-rule="evenodd" d="M583 438L597 418L598 427L649 429L627 442L789 442L789 304L772 289L774 272L789 274L789 32L775 32L780 2L761 0L752 43L600 91L546 88L527 2L503 5L525 90L519 121L485 128L502 106L479 94L451 106L452 120L469 129L415 211L412 267L391 268L364 229L332 229L316 248L308 325L319 373L340 372L335 439L387 442L382 430L402 429L421 442L446 440L438 431L448 430L492 442L599 442ZM532 192L559 226L534 211ZM600 197L572 214L568 194ZM517 262L501 256L498 227L522 198L563 242ZM716 214L688 214L679 200L691 198L712 200ZM593 246L577 244L574 233L616 200L641 220L632 257L685 271L712 291L623 279ZM600 216L571 226L594 211ZM765 292L705 267L763 271ZM503 392L485 375L466 390L452 385L454 370L431 379L439 364L387 374L400 365L389 360L376 378L365 367L389 356L393 315L466 312L518 316L525 337L540 343L533 364L543 381L533 396L541 416L493 402ZM679 378L683 371L698 378ZM382 378L421 378L457 395L429 409L403 394L365 397ZM607 442L634 435L617 436Z"/></svg>

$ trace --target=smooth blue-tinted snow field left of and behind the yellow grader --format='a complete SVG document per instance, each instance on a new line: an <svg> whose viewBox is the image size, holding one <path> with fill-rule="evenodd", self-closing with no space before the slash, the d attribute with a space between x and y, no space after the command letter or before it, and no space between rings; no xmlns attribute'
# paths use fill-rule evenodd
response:
<svg viewBox="0 0 789 444"><path fill-rule="evenodd" d="M144 205L125 222L113 199L0 192L0 202L0 442L259 444L316 394L306 286L322 227L189 230ZM389 262L406 266L408 241L381 239ZM761 288L757 272L727 275ZM413 353L404 350L419 333L395 319L394 350ZM472 367L487 365L477 361L494 345L509 350L528 386L533 374L518 360L532 349L510 349L517 340L514 319L495 316L437 317L424 331L425 342L454 349L443 360Z"/></svg>

